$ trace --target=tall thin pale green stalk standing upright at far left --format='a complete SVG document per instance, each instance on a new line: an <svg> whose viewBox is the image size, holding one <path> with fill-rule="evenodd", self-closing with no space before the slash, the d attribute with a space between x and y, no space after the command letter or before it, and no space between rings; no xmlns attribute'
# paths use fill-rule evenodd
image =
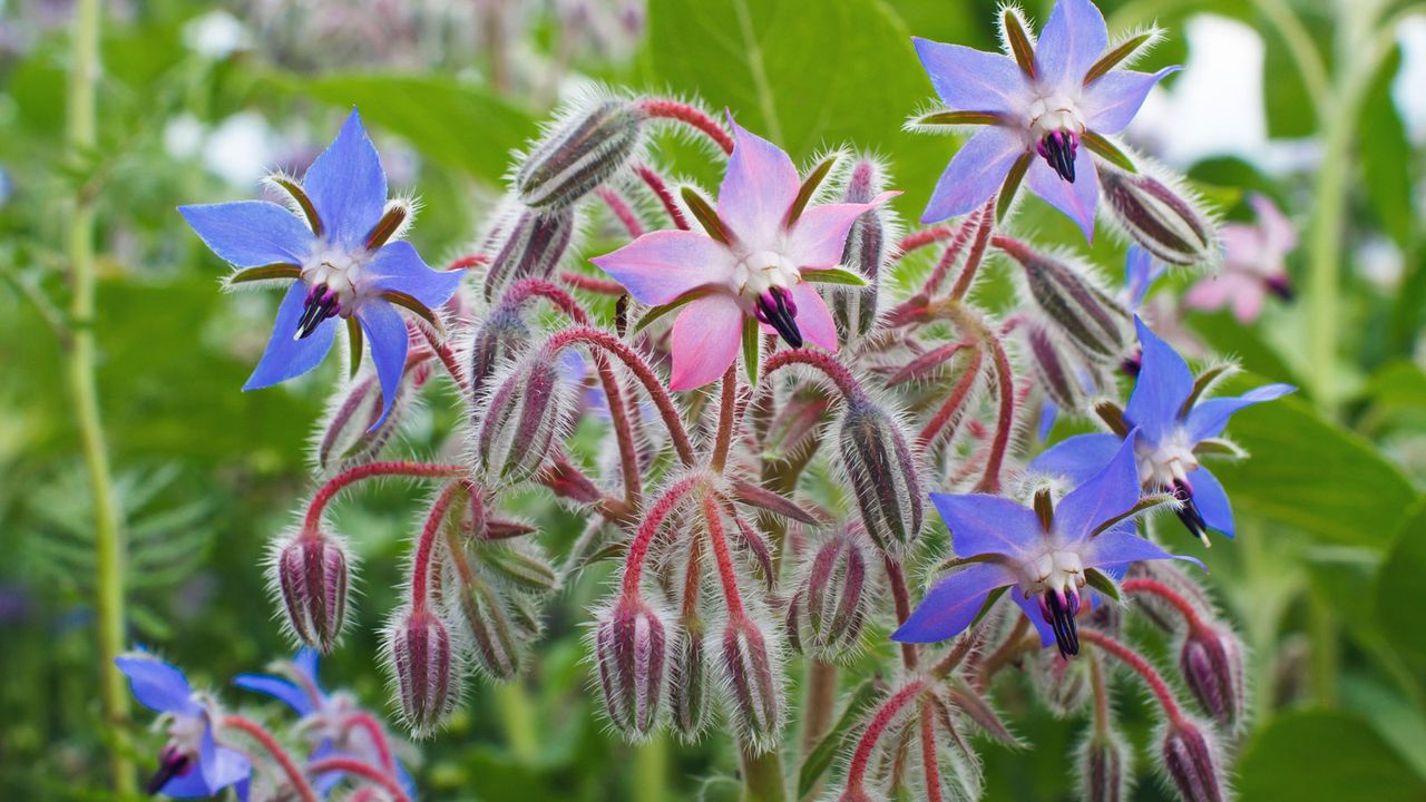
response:
<svg viewBox="0 0 1426 802"><path fill-rule="evenodd" d="M94 87L98 77L98 0L78 0L70 37L70 80L67 86L68 131L66 143L71 156L87 157L94 150L97 104ZM68 340L70 392L74 418L84 451L90 491L94 497L94 606L98 612L98 674L104 719L114 736L110 748L110 783L118 796L137 791L134 768L128 761L124 734L128 728L128 692L114 658L124 648L124 534L114 482L108 469L104 424L98 414L98 388L94 380L94 197L91 187L80 187L68 224L68 258L74 298L70 307L73 337Z"/></svg>

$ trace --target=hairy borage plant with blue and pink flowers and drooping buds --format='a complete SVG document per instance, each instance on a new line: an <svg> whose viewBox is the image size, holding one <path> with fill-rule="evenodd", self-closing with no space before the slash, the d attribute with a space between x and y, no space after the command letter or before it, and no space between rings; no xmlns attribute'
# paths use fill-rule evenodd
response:
<svg viewBox="0 0 1426 802"><path fill-rule="evenodd" d="M1014 9L1000 21L1007 54L917 41L945 108L910 127L984 126L925 210L958 218L947 224L903 233L876 158L834 150L799 171L736 110L724 123L615 93L569 104L512 166L478 253L443 271L401 240L414 205L386 200L355 114L302 181L272 178L291 213L185 208L238 268L230 284L288 285L250 387L312 368L337 318L348 321L351 378L317 438L325 482L270 565L295 639L328 652L348 618L354 559L329 502L359 481L406 477L435 491L384 661L416 736L441 728L471 675L516 678L550 592L616 559L589 629L610 726L630 741L726 734L749 798L784 799L793 785L799 798L974 798L971 735L1020 743L994 704L1010 668L1054 709L1088 712L1074 753L1082 796L1124 798L1138 761L1112 715L1117 666L1158 706L1166 788L1224 798L1242 648L1195 571L1159 562L1169 554L1144 515L1171 509L1196 535L1231 535L1226 495L1198 460L1242 457L1221 437L1228 415L1288 388L1204 400L1225 368L1195 381L1131 311L1162 273L1155 261L1218 258L1212 217L1181 180L1115 140L1165 74L1127 68L1159 33L1109 41L1087 0L1061 0L1038 40ZM716 200L666 177L650 144L663 127L726 156ZM1142 248L1131 288L1111 290L1070 248L1015 235L1027 177L1087 237L1108 218ZM597 270L575 258L590 218L627 240L600 248ZM1015 291L980 303L992 253ZM893 274L914 291L896 297ZM466 407L442 450L459 458L384 458L441 374ZM1121 410L1107 397L1134 374ZM1097 412L1111 432L1031 462L1024 432L1048 404ZM607 462L566 451L586 421ZM506 511L530 485L588 514L559 561ZM928 494L950 544L925 525ZM1172 634L1172 672L1125 638L1122 619L1139 609L1129 597ZM175 721L197 722L183 728L183 759L205 766L212 715L174 705ZM793 732L797 772L784 771ZM230 773L204 768L205 789ZM278 793L294 789L291 775Z"/></svg>

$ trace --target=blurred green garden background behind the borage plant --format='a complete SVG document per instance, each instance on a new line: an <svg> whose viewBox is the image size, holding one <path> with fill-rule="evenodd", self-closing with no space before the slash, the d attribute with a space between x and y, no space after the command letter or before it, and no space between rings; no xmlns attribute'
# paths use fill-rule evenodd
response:
<svg viewBox="0 0 1426 802"><path fill-rule="evenodd" d="M1038 20L1050 3L1028 0ZM1226 218L1251 193L1298 227L1293 300L1249 323L1149 303L1198 357L1238 357L1305 388L1235 420L1253 455L1221 475L1242 522L1208 555L1218 599L1252 649L1255 721L1245 799L1426 799L1426 16L1385 0L1101 3L1111 33L1155 20L1139 68L1188 68L1155 90L1127 138L1188 174ZM509 151L559 98L593 81L697 96L794 158L850 141L891 160L915 218L954 143L907 134L931 94L915 33L994 49L990 0L106 0L93 146L67 141L74 3L0 3L0 798L110 799L106 751L148 766L158 745L100 704L96 504L70 365L93 340L120 541L123 641L232 696L228 678L287 654L260 567L311 491L307 445L337 378L328 364L241 394L275 295L220 293L222 265L174 207L254 197L301 171L359 107L391 184L419 194L412 240L432 264L472 250L502 194ZM697 148L670 167L713 184ZM1038 201L1018 221L1082 243ZM70 237L94 215L97 308L74 314ZM589 253L599 253L595 221ZM610 235L613 230L609 228ZM605 238L606 243L613 241ZM1092 255L1118 275L1122 244ZM83 347L81 347L83 348ZM81 371L83 372L83 371ZM408 422L431 454L455 398ZM352 494L338 524L365 565L356 622L329 685L388 709L374 664L419 499L389 484ZM579 521L529 499L553 551ZM724 739L633 749L603 732L573 581L523 681L479 685L422 745L431 799L722 799ZM985 748L992 799L1068 798L1081 722L1002 696L1032 746ZM1151 724L1124 716L1135 738ZM1137 798L1161 789L1141 782Z"/></svg>

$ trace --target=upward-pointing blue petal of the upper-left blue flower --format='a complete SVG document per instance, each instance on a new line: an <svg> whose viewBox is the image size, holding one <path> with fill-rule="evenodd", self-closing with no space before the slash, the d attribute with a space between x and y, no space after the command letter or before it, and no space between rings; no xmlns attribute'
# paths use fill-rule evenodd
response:
<svg viewBox="0 0 1426 802"><path fill-rule="evenodd" d="M327 238L349 247L365 244L386 207L386 173L355 108L337 140L307 168L302 190L312 198Z"/></svg>

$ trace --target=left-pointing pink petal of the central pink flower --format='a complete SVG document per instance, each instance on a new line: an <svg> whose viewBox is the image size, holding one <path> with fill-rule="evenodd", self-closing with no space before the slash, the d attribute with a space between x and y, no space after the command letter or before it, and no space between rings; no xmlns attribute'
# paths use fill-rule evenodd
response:
<svg viewBox="0 0 1426 802"><path fill-rule="evenodd" d="M733 277L733 253L727 245L693 231L645 234L589 261L645 304L667 304L689 290Z"/></svg>

